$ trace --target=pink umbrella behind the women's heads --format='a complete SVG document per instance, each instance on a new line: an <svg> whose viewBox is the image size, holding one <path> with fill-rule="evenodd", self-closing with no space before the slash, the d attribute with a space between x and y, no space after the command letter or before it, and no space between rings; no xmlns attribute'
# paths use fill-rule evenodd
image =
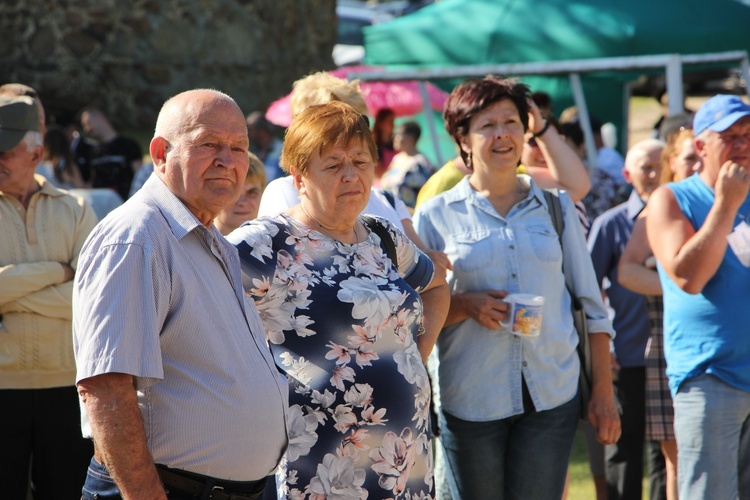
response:
<svg viewBox="0 0 750 500"><path fill-rule="evenodd" d="M346 78L349 73L378 70L374 66L346 66L331 71L331 74L339 78ZM378 110L390 108L396 116L410 116L422 111L422 94L419 92L419 84L416 81L400 82L360 82L362 95L367 103L370 114L375 116ZM442 111L448 94L431 83L426 84L427 96L430 107L436 111ZM292 94L288 94L274 101L266 111L266 118L271 123L281 127L288 127L292 123Z"/></svg>

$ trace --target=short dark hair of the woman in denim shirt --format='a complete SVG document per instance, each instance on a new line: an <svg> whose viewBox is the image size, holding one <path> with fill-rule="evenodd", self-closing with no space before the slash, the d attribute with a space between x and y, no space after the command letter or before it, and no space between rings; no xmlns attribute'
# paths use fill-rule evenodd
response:
<svg viewBox="0 0 750 500"><path fill-rule="evenodd" d="M527 85L511 78L488 75L482 79L471 78L453 89L445 103L443 119L445 130L459 146L461 157L467 161L468 155L461 149L461 137L469 133L471 119L489 106L509 99L516 105L518 115L526 132L529 128L529 103L531 91Z"/></svg>

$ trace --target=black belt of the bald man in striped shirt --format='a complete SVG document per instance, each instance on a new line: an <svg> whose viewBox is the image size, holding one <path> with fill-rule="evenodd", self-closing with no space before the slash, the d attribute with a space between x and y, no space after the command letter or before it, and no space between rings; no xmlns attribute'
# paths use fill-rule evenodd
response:
<svg viewBox="0 0 750 500"><path fill-rule="evenodd" d="M170 469L156 464L164 488L187 493L200 500L244 500L260 499L266 478L258 481L226 481L180 469Z"/></svg>

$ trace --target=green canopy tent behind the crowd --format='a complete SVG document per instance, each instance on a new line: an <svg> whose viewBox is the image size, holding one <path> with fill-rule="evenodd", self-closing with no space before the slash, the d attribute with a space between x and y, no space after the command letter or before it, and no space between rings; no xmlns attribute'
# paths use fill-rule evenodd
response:
<svg viewBox="0 0 750 500"><path fill-rule="evenodd" d="M365 60L403 75L424 68L744 51L750 48L749 25L750 8L738 0L443 0L367 28ZM696 68L709 64L703 62ZM588 109L604 121L626 121L628 82L643 72L664 71L658 65L626 69L583 73ZM561 68L556 76L523 80L553 95L559 111L573 104L571 72ZM672 90L679 109L682 89Z"/></svg>

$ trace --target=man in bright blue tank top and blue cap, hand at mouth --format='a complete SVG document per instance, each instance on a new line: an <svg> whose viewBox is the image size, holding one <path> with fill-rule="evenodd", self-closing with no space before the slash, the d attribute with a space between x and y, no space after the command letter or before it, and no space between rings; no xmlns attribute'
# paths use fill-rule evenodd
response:
<svg viewBox="0 0 750 500"><path fill-rule="evenodd" d="M700 173L659 188L648 239L664 290L680 498L750 498L750 106L695 114Z"/></svg>

